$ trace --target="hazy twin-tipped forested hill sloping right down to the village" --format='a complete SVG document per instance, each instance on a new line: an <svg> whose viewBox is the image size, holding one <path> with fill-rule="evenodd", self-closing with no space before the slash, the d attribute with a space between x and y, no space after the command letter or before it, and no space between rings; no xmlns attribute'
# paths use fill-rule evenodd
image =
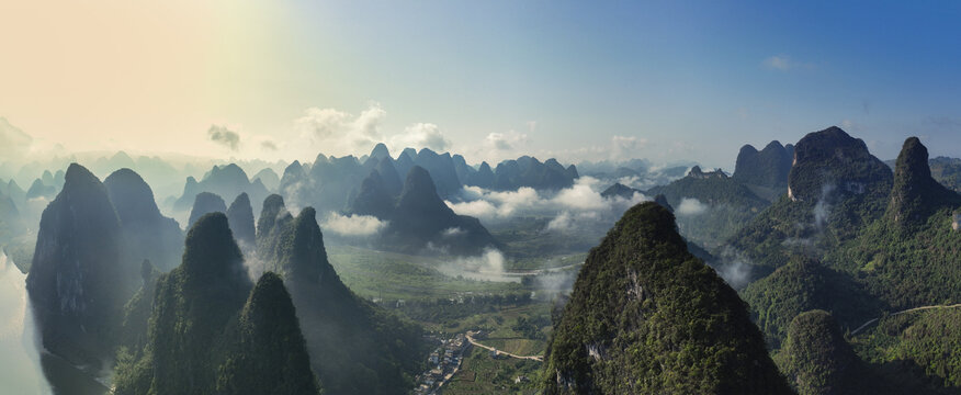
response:
<svg viewBox="0 0 961 395"><path fill-rule="evenodd" d="M314 372L333 394L406 394L422 357L422 329L358 297L327 260L316 212L292 216L268 196L257 228L264 269L291 290Z"/></svg>

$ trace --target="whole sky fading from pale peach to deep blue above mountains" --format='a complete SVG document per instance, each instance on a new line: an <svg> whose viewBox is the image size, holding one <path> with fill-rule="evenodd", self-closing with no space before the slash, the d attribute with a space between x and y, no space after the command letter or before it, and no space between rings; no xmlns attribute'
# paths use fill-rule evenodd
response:
<svg viewBox="0 0 961 395"><path fill-rule="evenodd" d="M882 158L909 135L958 157L959 8L3 1L0 117L34 151L312 160L383 140L730 169L745 143L839 125Z"/></svg>

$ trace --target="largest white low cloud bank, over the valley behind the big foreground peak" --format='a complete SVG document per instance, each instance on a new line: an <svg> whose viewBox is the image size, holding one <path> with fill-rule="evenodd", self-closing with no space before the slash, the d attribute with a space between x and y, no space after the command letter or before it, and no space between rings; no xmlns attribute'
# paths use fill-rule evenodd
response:
<svg viewBox="0 0 961 395"><path fill-rule="evenodd" d="M609 228L628 208L648 200L641 193L635 193L631 199L601 196L601 191L607 187L591 177L580 177L574 185L553 193L528 187L516 191L464 187L462 201L448 201L446 204L455 213L477 217L485 225L535 215L553 217L544 232L569 233L598 226Z"/></svg>

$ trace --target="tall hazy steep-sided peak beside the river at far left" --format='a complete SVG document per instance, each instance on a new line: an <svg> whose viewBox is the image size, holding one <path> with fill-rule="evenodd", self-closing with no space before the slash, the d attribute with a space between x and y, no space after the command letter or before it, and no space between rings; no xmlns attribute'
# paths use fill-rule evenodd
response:
<svg viewBox="0 0 961 395"><path fill-rule="evenodd" d="M121 257L121 222L106 188L74 163L44 210L26 287L43 347L76 365L113 353L111 328L138 284L137 264Z"/></svg>

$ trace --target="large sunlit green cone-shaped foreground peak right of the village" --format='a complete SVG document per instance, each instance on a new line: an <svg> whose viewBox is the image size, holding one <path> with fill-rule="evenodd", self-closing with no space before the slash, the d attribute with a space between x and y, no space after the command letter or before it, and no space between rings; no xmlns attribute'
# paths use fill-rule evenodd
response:
<svg viewBox="0 0 961 395"><path fill-rule="evenodd" d="M744 302L651 202L591 250L545 361L550 394L790 392Z"/></svg>

